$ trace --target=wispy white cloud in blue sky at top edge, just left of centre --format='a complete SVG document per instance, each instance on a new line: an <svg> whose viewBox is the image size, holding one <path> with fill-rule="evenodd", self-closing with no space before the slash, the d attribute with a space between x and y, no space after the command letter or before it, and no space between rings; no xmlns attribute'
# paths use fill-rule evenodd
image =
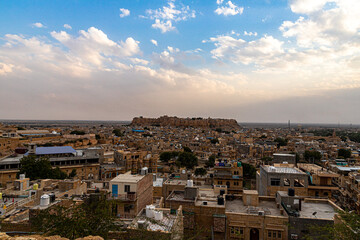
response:
<svg viewBox="0 0 360 240"><path fill-rule="evenodd" d="M155 20L151 25L152 28L159 29L162 33L173 31L176 29L173 22L186 21L196 17L196 12L191 10L189 6L178 8L175 6L175 0L169 0L168 6L158 9L146 10L147 18Z"/></svg>

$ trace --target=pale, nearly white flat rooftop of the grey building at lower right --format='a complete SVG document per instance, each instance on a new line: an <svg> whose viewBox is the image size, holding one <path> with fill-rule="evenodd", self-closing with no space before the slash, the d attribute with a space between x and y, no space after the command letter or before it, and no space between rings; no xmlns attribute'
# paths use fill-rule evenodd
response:
<svg viewBox="0 0 360 240"><path fill-rule="evenodd" d="M328 203L301 203L300 217L302 218L319 218L332 220L335 214L336 210Z"/></svg>

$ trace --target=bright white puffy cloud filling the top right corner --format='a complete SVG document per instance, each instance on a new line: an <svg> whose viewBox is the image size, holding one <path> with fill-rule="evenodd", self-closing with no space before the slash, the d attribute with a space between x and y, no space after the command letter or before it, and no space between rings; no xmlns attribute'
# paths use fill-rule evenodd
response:
<svg viewBox="0 0 360 240"><path fill-rule="evenodd" d="M293 12L305 16L294 22L284 21L279 29L284 37L296 38L300 47L337 48L347 43L360 43L359 1L293 0L290 6Z"/></svg>

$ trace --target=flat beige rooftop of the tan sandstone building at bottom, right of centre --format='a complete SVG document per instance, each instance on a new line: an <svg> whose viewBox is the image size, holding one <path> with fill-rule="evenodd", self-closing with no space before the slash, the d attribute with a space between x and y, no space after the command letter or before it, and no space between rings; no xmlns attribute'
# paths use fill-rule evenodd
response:
<svg viewBox="0 0 360 240"><path fill-rule="evenodd" d="M282 216L280 210L276 207L275 201L259 201L259 206L245 206L244 202L240 199L226 201L226 212L233 213L246 213L258 215L259 211L264 211L265 215Z"/></svg>

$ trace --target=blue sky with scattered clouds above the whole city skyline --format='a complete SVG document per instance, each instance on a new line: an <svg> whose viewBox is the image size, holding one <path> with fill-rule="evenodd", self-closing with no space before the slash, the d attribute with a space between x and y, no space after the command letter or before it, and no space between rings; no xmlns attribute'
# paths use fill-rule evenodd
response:
<svg viewBox="0 0 360 240"><path fill-rule="evenodd" d="M358 0L1 0L0 119L360 123Z"/></svg>

